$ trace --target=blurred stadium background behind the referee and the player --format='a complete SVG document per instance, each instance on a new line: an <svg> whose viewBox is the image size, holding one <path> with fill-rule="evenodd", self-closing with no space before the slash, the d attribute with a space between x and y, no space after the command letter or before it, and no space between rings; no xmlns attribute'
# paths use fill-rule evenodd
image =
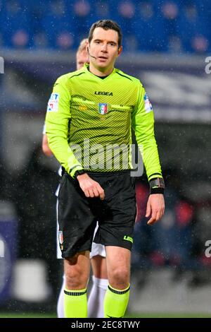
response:
<svg viewBox="0 0 211 332"><path fill-rule="evenodd" d="M146 177L136 182L128 315L211 316L210 0L0 0L0 316L56 316L58 164L42 126L53 82L101 18L120 23L117 67L151 98L167 184L165 216L148 227Z"/></svg>

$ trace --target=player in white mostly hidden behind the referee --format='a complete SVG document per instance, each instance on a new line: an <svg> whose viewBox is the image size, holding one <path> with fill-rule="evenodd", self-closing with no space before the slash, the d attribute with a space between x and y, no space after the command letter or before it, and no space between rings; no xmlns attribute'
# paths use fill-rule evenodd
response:
<svg viewBox="0 0 211 332"><path fill-rule="evenodd" d="M87 40L82 40L77 50L76 54L77 69L82 68L82 66L84 66L84 63L87 62L89 58L87 53L86 41ZM49 156L53 155L53 153L49 148L48 138L45 134L45 129L43 132L42 150L45 153L45 155ZM58 171L58 173L61 176L61 169ZM59 191L59 186L56 191L57 197L58 197L58 191ZM58 211L57 204L58 201L56 203L56 213ZM57 237L57 258L62 259L58 243L58 237ZM91 292L89 294L89 300L88 300L88 308L89 308L88 316L90 318L91 317L99 318L103 317L103 300L108 286L105 247L102 244L96 244L93 242L91 247L90 259L93 271L93 277L92 277L93 285L91 287ZM60 290L60 295L58 297L58 304L57 304L57 314L59 318L64 318L64 305L63 305L64 287L65 287L65 280L63 276L63 285Z"/></svg>

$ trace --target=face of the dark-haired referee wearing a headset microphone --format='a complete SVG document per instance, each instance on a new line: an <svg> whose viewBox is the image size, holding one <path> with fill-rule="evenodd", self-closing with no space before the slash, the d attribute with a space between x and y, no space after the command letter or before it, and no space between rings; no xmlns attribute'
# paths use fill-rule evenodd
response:
<svg viewBox="0 0 211 332"><path fill-rule="evenodd" d="M122 52L118 47L118 33L115 30L96 28L89 43L89 61L96 69L106 71L113 68Z"/></svg>

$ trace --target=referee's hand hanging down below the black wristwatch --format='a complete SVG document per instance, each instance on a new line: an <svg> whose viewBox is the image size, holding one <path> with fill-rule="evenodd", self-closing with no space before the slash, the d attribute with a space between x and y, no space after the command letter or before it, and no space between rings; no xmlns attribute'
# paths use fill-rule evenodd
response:
<svg viewBox="0 0 211 332"><path fill-rule="evenodd" d="M153 225L156 223L165 211L165 201L163 194L151 194L148 198L146 206L146 218L151 216L148 220L148 225Z"/></svg>

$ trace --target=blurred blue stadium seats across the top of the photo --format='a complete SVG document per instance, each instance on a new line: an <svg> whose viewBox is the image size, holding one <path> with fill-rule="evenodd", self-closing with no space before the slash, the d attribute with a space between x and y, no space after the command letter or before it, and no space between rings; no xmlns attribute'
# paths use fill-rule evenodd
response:
<svg viewBox="0 0 211 332"><path fill-rule="evenodd" d="M127 52L206 53L210 0L0 0L0 46L76 49L92 23L116 20Z"/></svg>

